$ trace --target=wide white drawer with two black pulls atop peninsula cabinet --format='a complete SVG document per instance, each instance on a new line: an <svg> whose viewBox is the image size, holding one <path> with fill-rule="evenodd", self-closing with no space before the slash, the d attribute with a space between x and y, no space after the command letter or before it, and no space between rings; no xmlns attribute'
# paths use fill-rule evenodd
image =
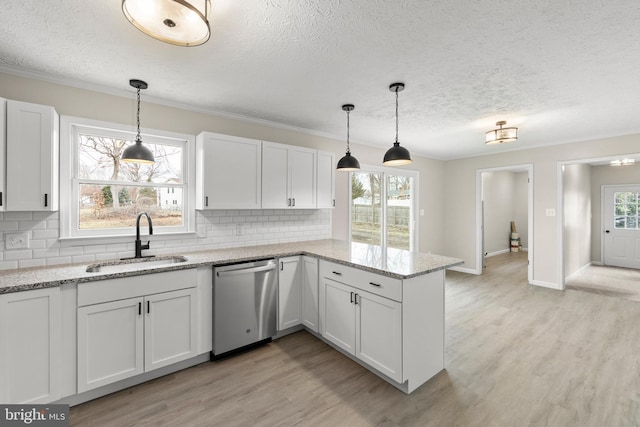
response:
<svg viewBox="0 0 640 427"><path fill-rule="evenodd" d="M402 280L320 260L320 276L402 302Z"/></svg>

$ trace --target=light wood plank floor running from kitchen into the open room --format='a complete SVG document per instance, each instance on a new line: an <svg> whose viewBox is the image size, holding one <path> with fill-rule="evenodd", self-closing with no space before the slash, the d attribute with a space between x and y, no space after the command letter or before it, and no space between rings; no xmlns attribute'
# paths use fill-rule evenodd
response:
<svg viewBox="0 0 640 427"><path fill-rule="evenodd" d="M446 370L405 395L306 332L71 409L96 426L637 426L640 304L447 273Z"/></svg>

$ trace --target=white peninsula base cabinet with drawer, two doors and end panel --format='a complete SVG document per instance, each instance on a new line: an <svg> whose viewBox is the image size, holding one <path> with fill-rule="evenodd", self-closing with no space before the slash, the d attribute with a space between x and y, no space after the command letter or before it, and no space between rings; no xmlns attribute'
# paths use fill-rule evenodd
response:
<svg viewBox="0 0 640 427"><path fill-rule="evenodd" d="M411 393L444 369L444 270L405 279L319 262L320 334Z"/></svg>

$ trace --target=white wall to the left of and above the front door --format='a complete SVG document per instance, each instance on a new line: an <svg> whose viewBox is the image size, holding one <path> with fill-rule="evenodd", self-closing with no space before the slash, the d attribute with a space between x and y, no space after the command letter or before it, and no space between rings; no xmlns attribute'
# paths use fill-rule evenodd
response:
<svg viewBox="0 0 640 427"><path fill-rule="evenodd" d="M591 260L602 262L602 204L603 185L640 184L640 165L633 166L593 166L591 168Z"/></svg>

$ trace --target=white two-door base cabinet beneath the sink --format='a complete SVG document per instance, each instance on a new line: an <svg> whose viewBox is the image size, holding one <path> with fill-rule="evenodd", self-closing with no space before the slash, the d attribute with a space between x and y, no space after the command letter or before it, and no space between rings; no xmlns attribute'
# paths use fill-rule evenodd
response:
<svg viewBox="0 0 640 427"><path fill-rule="evenodd" d="M196 356L196 283L190 269L79 284L78 392Z"/></svg>

